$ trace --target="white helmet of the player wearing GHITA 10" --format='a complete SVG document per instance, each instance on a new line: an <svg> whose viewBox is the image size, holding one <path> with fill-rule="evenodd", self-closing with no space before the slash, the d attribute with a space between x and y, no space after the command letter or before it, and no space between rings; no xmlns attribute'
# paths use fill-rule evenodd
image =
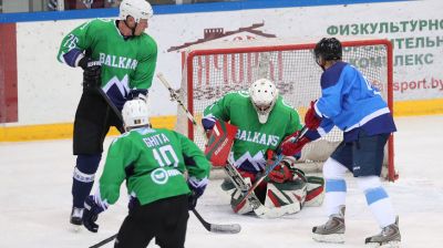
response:
<svg viewBox="0 0 443 248"><path fill-rule="evenodd" d="M123 105L122 115L126 131L131 127L150 125L150 111L142 99L127 101Z"/></svg>

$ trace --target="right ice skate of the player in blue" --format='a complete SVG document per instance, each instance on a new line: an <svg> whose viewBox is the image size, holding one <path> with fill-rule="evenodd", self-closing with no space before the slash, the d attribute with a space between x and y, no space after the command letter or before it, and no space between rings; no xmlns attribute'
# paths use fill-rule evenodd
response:
<svg viewBox="0 0 443 248"><path fill-rule="evenodd" d="M395 223L391 224L382 229L379 235L369 237L365 239L368 247L400 247L401 235L399 229L399 217Z"/></svg>

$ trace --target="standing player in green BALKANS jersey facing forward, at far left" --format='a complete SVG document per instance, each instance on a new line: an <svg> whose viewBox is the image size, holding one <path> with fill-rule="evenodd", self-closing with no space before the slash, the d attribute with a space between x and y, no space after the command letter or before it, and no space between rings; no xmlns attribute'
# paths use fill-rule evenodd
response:
<svg viewBox="0 0 443 248"><path fill-rule="evenodd" d="M146 95L151 87L157 45L145 33L153 16L145 0L123 0L117 20L91 20L68 33L58 60L83 69L83 93L76 108L73 154L73 207L70 223L79 228L83 203L90 194L111 126L124 132L119 112L123 104ZM114 105L114 111L106 102Z"/></svg>

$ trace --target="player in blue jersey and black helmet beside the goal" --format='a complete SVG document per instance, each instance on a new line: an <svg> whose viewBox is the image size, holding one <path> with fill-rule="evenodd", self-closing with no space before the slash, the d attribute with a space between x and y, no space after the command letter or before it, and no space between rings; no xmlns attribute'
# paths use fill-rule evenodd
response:
<svg viewBox="0 0 443 248"><path fill-rule="evenodd" d="M381 234L367 238L365 244L396 247L401 240L398 218L380 182L384 145L391 133L396 131L392 114L379 90L359 70L341 60L339 40L320 40L315 48L315 56L323 73L320 80L321 97L311 102L305 116L309 131L297 143L282 144L282 153L291 155L333 126L343 131L343 141L323 165L329 219L324 225L312 228L313 239L344 241L344 173L350 170L382 228Z"/></svg>

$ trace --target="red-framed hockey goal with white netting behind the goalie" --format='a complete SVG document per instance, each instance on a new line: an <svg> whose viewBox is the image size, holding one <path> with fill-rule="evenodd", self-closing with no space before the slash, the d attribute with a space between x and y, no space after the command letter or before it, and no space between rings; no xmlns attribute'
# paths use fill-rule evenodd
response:
<svg viewBox="0 0 443 248"><path fill-rule="evenodd" d="M392 45L380 39L340 39L343 61L357 66L381 92L392 110ZM203 111L227 92L247 90L256 80L270 79L285 102L305 116L309 103L320 96L321 69L313 59L316 41L266 39L208 42L193 45L183 53L181 97L200 122ZM204 149L203 135L178 111L176 130ZM306 172L321 170L323 162L342 140L337 127L324 137L309 143L301 152L299 166ZM393 136L385 146L382 176L396 178L393 164Z"/></svg>

